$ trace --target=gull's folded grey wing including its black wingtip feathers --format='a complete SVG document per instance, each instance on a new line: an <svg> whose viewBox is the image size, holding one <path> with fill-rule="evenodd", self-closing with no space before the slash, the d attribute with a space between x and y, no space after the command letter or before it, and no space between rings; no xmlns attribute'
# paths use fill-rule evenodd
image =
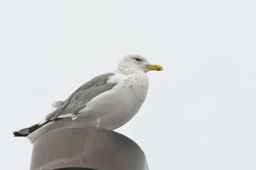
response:
<svg viewBox="0 0 256 170"><path fill-rule="evenodd" d="M81 109L86 107L86 104L91 101L92 98L111 90L117 84L117 82L108 83L108 78L113 75L114 73L107 73L94 77L89 80L89 82L81 85L80 88L75 90L75 92L72 93L65 101L57 101L53 104L53 107L55 107L56 110L48 114L44 120L35 125L31 125L29 128L14 131L13 134L15 136L28 136L49 122L62 119L64 117L75 117L79 114Z"/></svg>

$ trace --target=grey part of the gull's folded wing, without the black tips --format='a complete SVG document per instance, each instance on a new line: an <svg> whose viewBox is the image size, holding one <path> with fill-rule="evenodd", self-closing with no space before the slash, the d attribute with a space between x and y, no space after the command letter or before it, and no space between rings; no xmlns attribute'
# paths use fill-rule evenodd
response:
<svg viewBox="0 0 256 170"><path fill-rule="evenodd" d="M67 114L78 115L78 112L85 108L92 98L111 90L117 84L117 82L108 83L108 77L113 75L114 73L102 74L80 86L69 98L59 103L61 105L58 109L45 117L43 124L48 123L50 120L56 120L59 117L65 117Z"/></svg>

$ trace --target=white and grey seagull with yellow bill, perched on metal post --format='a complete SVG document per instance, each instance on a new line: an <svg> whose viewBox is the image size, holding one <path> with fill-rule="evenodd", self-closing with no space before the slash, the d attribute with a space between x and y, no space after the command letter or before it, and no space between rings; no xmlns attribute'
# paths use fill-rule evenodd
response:
<svg viewBox="0 0 256 170"><path fill-rule="evenodd" d="M56 129L91 126L114 130L136 115L148 93L147 72L162 71L141 55L126 55L115 72L99 75L75 90L65 101L53 104L55 110L35 125L14 131L31 144Z"/></svg>

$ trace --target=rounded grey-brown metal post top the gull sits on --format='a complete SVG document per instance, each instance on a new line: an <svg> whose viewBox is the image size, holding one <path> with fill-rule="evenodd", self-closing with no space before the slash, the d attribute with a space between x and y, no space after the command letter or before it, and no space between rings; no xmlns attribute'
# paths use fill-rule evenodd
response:
<svg viewBox="0 0 256 170"><path fill-rule="evenodd" d="M101 128L51 131L34 143L31 170L53 169L148 170L138 144Z"/></svg>

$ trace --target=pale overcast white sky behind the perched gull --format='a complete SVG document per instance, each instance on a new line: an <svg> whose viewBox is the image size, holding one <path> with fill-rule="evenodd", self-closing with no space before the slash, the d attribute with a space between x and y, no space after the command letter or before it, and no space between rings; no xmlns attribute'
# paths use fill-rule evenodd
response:
<svg viewBox="0 0 256 170"><path fill-rule="evenodd" d="M0 169L29 169L33 125L129 53L149 72L118 131L151 170L256 169L255 1L1 1Z"/></svg>

